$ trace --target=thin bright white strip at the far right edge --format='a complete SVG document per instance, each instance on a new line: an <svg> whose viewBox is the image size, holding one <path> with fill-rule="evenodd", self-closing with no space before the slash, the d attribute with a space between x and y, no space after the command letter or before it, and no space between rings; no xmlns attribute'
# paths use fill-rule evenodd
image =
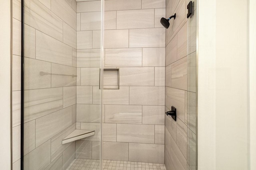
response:
<svg viewBox="0 0 256 170"><path fill-rule="evenodd" d="M256 0L250 0L250 168L256 170Z"/></svg>

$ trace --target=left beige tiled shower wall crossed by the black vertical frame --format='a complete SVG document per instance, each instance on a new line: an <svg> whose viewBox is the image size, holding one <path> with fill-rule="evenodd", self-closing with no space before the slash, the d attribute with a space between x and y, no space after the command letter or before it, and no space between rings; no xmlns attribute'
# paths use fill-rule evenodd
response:
<svg viewBox="0 0 256 170"><path fill-rule="evenodd" d="M24 167L65 169L75 143L76 1L25 0ZM13 0L13 169L20 169L21 2Z"/></svg>

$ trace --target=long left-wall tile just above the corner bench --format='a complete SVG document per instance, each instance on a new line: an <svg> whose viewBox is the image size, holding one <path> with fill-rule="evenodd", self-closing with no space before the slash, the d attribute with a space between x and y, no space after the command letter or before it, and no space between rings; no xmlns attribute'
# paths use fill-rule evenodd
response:
<svg viewBox="0 0 256 170"><path fill-rule="evenodd" d="M36 147L72 124L72 107L36 119Z"/></svg>

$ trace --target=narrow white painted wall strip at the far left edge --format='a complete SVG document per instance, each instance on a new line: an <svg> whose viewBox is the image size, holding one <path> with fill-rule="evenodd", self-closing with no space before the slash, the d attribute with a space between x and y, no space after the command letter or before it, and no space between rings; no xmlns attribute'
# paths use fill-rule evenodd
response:
<svg viewBox="0 0 256 170"><path fill-rule="evenodd" d="M0 165L1 169L10 170L11 3L0 2Z"/></svg>

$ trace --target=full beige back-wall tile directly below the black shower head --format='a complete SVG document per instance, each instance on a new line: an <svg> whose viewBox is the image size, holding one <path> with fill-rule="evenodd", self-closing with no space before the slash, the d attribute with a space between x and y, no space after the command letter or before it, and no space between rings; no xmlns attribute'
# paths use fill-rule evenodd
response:
<svg viewBox="0 0 256 170"><path fill-rule="evenodd" d="M165 28L130 29L129 47L165 47Z"/></svg>

